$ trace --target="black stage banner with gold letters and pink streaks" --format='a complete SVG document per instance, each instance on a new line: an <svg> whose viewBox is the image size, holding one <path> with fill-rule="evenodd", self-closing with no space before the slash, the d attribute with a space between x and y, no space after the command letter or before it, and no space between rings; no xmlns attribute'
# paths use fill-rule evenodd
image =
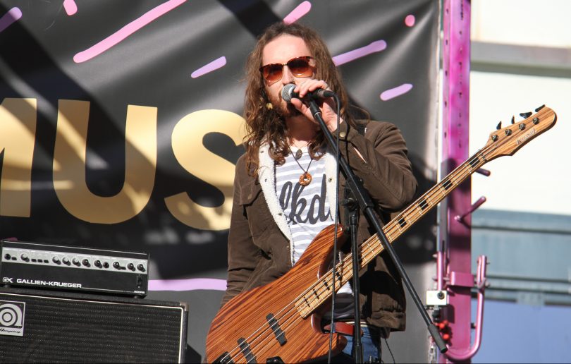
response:
<svg viewBox="0 0 571 364"><path fill-rule="evenodd" d="M315 28L352 102L403 131L424 192L436 170L439 10L436 0L0 0L0 238L149 253L154 298L214 292L189 302L202 353L226 285L257 35L277 21ZM434 253L435 216L403 238L405 262Z"/></svg>

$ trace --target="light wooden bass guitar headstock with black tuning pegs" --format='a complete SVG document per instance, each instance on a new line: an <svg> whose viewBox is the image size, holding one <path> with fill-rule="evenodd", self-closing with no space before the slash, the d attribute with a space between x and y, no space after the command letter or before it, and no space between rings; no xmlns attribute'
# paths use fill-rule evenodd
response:
<svg viewBox="0 0 571 364"><path fill-rule="evenodd" d="M513 123L505 128L499 128L501 124L498 124L498 130L490 134L486 146L482 149L486 150L484 153L486 160L513 155L527 142L555 125L557 115L553 110L544 105L535 111L536 114L533 115L521 114L527 116L523 121L514 122L512 119Z"/></svg>

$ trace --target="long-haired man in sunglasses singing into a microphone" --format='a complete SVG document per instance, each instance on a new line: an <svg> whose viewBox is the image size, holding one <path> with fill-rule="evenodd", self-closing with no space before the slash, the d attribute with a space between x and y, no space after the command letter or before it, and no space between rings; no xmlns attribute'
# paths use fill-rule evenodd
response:
<svg viewBox="0 0 571 364"><path fill-rule="evenodd" d="M414 197L417 181L405 141L393 124L369 121L349 104L324 40L297 23L276 23L259 37L247 59L245 94L246 152L236 165L231 227L228 235L228 286L223 304L243 291L269 284L288 272L314 237L345 216L345 179L323 132L302 99L318 89L338 95L340 124L332 99L319 101L329 131L339 128L340 153L363 181L381 222ZM299 99L286 102L285 85L295 85ZM361 119L365 115L365 119ZM340 182L340 196L336 183ZM360 219L360 242L374 231ZM349 239L348 239L349 240ZM400 276L383 254L360 272L360 313L364 360L380 360L380 339L405 329L405 295ZM349 344L336 360L348 360L353 322L350 284L336 296L333 320L326 329L347 335Z"/></svg>

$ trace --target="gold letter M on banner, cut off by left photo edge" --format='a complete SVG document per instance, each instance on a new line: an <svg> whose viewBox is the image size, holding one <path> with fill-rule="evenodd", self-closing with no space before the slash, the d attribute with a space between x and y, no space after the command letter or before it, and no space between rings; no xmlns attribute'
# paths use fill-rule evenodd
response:
<svg viewBox="0 0 571 364"><path fill-rule="evenodd" d="M4 99L0 104L0 215L30 217L32 159L37 99Z"/></svg>

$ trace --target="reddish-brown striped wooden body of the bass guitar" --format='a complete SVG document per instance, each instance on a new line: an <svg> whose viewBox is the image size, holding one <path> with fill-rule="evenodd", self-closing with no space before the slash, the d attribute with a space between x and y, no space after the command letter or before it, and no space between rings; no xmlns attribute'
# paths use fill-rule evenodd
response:
<svg viewBox="0 0 571 364"><path fill-rule="evenodd" d="M338 236L341 233L339 229ZM223 305L207 336L208 362L265 363L279 357L284 363L300 363L327 356L329 333L321 331L319 313L304 319L294 303L321 272L326 272L333 238L334 226L329 226L309 244L288 273L266 286L240 293ZM270 323L267 315L274 315L276 322ZM277 332L279 339L272 327L283 332ZM345 344L344 336L333 334L333 354L340 353Z"/></svg>

